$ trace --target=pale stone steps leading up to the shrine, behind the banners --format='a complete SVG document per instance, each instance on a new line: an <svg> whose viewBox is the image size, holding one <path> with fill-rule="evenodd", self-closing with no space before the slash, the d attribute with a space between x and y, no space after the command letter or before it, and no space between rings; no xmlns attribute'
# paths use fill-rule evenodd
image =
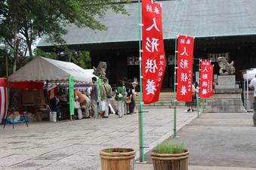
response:
<svg viewBox="0 0 256 170"><path fill-rule="evenodd" d="M140 105L140 94L135 96L135 110ZM200 99L200 107L202 108L203 100L205 100L205 108L211 108L212 96L209 99ZM185 108L185 102L176 102L177 108ZM173 92L162 92L159 96L159 102L154 102L149 105L143 105L143 108L174 108L174 93Z"/></svg>

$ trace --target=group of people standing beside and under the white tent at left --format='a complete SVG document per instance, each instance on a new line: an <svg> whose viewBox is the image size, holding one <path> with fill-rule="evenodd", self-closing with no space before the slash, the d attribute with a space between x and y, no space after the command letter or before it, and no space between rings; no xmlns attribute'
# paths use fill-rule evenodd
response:
<svg viewBox="0 0 256 170"><path fill-rule="evenodd" d="M83 118L94 118L97 119L100 117L99 113L99 103L104 102L102 109L104 114L102 118L109 117L109 103L110 99L113 96L117 96L117 105L116 114L119 117L124 117L127 114L135 114L135 100L134 96L138 96L138 93L135 91L137 87L137 82L129 83L128 78L125 77L123 80L117 81L116 93L113 93L112 87L109 85L108 79L103 78L103 83L100 85L97 82L97 77L91 78L92 83L86 91L86 94L82 94L79 90L74 90L74 98L76 102L79 102L80 107L75 109L76 119L81 120ZM54 98L50 100L51 111L57 112L57 121L65 120L69 115L66 114L66 110L63 105L66 105L69 101L69 93L66 93L66 101L60 99L63 94L57 92ZM90 111L91 117L90 117ZM83 117L85 114L85 117Z"/></svg>

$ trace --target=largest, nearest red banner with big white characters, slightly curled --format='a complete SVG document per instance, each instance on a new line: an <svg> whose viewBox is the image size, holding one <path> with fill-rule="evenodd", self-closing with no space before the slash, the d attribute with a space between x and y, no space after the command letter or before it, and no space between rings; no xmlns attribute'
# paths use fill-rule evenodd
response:
<svg viewBox="0 0 256 170"><path fill-rule="evenodd" d="M165 75L165 47L162 35L162 7L151 0L142 1L142 76L143 102L159 101Z"/></svg>

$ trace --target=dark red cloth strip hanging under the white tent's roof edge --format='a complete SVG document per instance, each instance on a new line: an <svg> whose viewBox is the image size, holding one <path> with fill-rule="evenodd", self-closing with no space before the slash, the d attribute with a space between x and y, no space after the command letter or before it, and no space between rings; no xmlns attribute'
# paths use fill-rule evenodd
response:
<svg viewBox="0 0 256 170"><path fill-rule="evenodd" d="M19 82L9 83L9 87L27 90L41 90L44 88L44 82Z"/></svg>

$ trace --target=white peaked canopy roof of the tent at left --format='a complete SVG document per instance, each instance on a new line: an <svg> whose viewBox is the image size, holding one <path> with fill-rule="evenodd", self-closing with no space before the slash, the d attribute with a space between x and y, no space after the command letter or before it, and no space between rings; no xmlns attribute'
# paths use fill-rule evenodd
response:
<svg viewBox="0 0 256 170"><path fill-rule="evenodd" d="M62 62L38 56L24 65L9 77L10 82L69 80L73 76L76 81L91 82L94 70L79 67L72 62Z"/></svg>

